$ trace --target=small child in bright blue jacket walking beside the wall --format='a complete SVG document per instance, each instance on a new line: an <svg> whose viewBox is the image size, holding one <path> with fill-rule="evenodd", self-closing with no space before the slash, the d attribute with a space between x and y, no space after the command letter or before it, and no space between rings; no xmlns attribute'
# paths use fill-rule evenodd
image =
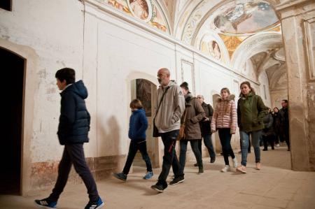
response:
<svg viewBox="0 0 315 209"><path fill-rule="evenodd" d="M134 161L137 151L140 150L142 158L146 162L146 175L144 179L150 179L153 176L151 160L146 151L146 129L148 129L148 120L146 119L146 112L139 99L134 99L130 103L132 115L130 116L128 136L131 139L129 152L125 167L122 173L114 173L113 175L120 180L127 180L127 175Z"/></svg>

